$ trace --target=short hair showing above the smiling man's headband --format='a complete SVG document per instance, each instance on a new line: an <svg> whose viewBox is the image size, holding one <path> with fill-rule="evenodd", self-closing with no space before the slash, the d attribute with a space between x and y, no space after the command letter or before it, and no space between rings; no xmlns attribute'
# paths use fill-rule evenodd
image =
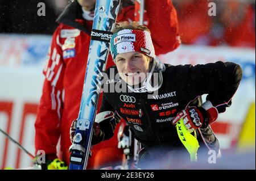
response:
<svg viewBox="0 0 256 181"><path fill-rule="evenodd" d="M121 30L130 29L130 30L142 30L142 31L148 31L150 30L143 25L140 25L138 22L119 22L115 24L113 33L117 33Z"/></svg>

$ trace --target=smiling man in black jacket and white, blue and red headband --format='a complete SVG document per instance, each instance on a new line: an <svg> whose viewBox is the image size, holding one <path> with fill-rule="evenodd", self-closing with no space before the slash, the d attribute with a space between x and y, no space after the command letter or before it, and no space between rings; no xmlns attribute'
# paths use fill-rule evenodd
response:
<svg viewBox="0 0 256 181"><path fill-rule="evenodd" d="M210 124L231 105L242 78L239 65L163 64L155 56L150 31L136 23L119 23L110 44L115 66L106 70L100 114L112 116L96 120L93 144L111 138L122 118L143 146L139 167L170 153L176 161L189 161L175 128L183 119L188 132L197 131L200 148L219 151ZM195 100L203 94L207 101L200 106Z"/></svg>

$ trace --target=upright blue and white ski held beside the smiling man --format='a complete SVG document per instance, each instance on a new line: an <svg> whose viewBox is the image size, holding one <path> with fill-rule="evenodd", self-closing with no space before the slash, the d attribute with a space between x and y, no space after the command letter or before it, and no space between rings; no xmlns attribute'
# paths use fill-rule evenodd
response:
<svg viewBox="0 0 256 181"><path fill-rule="evenodd" d="M103 78L102 72L105 70L111 31L117 19L120 2L121 0L96 1L79 116L70 148L69 170L86 169Z"/></svg>

